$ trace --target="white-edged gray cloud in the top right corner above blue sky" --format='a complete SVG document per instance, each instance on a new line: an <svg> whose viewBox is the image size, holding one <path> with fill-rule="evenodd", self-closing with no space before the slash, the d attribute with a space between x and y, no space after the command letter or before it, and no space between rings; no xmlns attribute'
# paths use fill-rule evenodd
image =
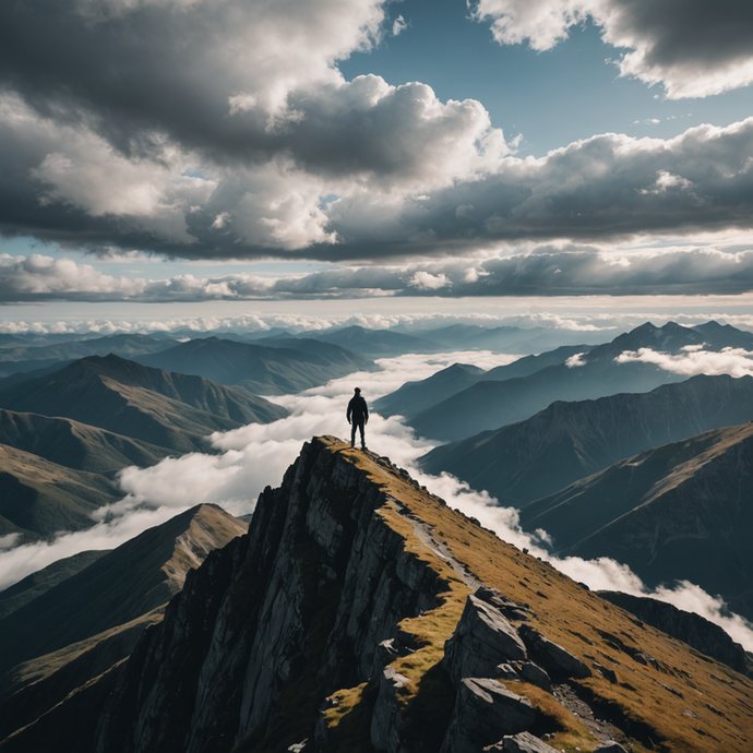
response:
<svg viewBox="0 0 753 753"><path fill-rule="evenodd" d="M661 83L672 99L753 83L753 12L736 0L478 0L473 13L500 44L539 51L590 20L624 50L621 75Z"/></svg>

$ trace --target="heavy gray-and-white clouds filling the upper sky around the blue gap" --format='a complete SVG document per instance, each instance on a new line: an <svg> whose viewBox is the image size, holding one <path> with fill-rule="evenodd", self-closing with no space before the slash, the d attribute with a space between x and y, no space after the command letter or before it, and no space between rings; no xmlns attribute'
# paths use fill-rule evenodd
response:
<svg viewBox="0 0 753 753"><path fill-rule="evenodd" d="M482 0L475 13L498 40L536 49L594 19L632 50L623 74L670 96L750 83L751 13L693 4ZM343 77L337 61L387 33L385 7L3 3L0 232L183 259L354 261L753 224L753 119L522 159L479 101ZM728 29L724 45L697 44L714 28Z"/></svg>

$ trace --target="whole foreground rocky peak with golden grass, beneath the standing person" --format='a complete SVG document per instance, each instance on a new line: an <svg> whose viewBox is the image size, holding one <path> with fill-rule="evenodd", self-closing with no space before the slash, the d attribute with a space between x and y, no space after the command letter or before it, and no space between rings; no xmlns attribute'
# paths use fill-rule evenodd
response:
<svg viewBox="0 0 753 753"><path fill-rule="evenodd" d="M0 751L750 753L752 708L745 676L324 437Z"/></svg>

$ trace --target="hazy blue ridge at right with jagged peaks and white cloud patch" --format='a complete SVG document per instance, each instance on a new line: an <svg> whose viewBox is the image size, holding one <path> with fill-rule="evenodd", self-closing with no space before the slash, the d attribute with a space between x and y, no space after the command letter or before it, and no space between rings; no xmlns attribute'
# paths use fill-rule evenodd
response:
<svg viewBox="0 0 753 753"><path fill-rule="evenodd" d="M477 382L415 414L407 425L421 437L453 441L523 420L554 401L648 392L686 378L652 363L618 363L615 358L626 350L640 348L680 354L689 346L703 346L709 350L725 347L751 349L753 334L716 322L691 328L672 322L662 327L646 323L611 343L584 350L577 359L539 369L528 376Z"/></svg>

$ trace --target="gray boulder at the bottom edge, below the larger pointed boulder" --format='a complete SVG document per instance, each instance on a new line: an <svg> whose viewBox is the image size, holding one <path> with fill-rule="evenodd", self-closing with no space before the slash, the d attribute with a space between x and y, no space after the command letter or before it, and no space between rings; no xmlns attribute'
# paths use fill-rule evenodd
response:
<svg viewBox="0 0 753 753"><path fill-rule="evenodd" d="M527 730L535 721L528 698L487 678L465 678L440 753L478 753L505 734Z"/></svg>

